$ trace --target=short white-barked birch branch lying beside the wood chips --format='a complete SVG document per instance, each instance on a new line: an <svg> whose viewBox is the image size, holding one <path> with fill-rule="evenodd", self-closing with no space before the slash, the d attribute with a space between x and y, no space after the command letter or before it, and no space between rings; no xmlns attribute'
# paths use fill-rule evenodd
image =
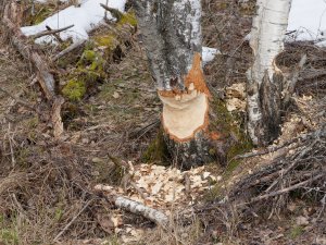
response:
<svg viewBox="0 0 326 245"><path fill-rule="evenodd" d="M110 203L113 203L116 207L118 207L121 209L125 209L129 212L140 215L162 226L166 226L168 223L168 218L163 212L161 212L156 209L147 207L143 204L140 204L138 201L113 194L110 186L97 185L97 186L95 186L95 189L100 193L103 193L105 198Z"/></svg>

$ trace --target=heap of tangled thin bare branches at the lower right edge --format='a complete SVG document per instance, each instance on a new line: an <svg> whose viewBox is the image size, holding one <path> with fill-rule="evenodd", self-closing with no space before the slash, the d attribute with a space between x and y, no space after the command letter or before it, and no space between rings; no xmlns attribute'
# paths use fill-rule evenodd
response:
<svg viewBox="0 0 326 245"><path fill-rule="evenodd" d="M229 193L229 199L239 199L242 206L264 199L274 199L280 207L292 191L325 199L326 195L326 125L286 144L272 160L239 181Z"/></svg>

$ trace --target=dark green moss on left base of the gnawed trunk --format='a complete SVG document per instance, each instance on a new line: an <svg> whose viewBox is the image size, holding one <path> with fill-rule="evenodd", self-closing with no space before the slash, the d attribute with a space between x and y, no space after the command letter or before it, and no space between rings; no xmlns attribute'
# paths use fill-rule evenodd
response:
<svg viewBox="0 0 326 245"><path fill-rule="evenodd" d="M156 138L150 143L149 147L143 152L142 159L145 162L167 163L168 150L164 140L162 128L159 131Z"/></svg>

